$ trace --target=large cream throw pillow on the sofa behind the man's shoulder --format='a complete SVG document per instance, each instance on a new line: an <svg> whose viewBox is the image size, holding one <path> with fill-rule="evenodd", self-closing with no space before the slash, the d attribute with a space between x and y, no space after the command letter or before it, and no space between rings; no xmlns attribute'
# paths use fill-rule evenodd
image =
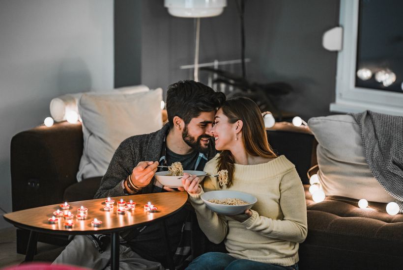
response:
<svg viewBox="0 0 403 270"><path fill-rule="evenodd" d="M134 94L83 94L84 149L77 180L103 176L116 148L126 138L161 129L162 89Z"/></svg>

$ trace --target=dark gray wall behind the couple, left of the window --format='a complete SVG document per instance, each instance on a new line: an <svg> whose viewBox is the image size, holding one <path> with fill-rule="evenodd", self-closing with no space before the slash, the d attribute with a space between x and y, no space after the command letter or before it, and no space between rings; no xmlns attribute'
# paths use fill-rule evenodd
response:
<svg viewBox="0 0 403 270"><path fill-rule="evenodd" d="M143 0L137 8L142 9L141 51L116 47L127 55L122 61L133 62L134 51L141 54L141 82L152 88L192 79L193 73L179 66L193 63L194 20L169 15L163 0ZM246 0L245 8L248 79L290 83L294 92L277 102L306 120L329 114L337 53L323 49L321 39L338 25L339 0ZM122 27L129 35L138 31L138 26ZM200 62L240 58L239 32L235 1L228 0L222 15L201 20ZM124 70L116 78L119 72Z"/></svg>

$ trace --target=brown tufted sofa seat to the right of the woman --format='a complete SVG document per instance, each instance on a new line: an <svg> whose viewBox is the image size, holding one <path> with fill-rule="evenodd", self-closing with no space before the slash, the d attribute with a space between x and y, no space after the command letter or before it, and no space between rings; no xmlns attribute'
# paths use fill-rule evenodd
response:
<svg viewBox="0 0 403 270"><path fill-rule="evenodd" d="M400 269L403 215L387 214L386 203L361 209L358 200L341 196L315 203L309 187L304 185L308 236L299 250L300 269Z"/></svg>

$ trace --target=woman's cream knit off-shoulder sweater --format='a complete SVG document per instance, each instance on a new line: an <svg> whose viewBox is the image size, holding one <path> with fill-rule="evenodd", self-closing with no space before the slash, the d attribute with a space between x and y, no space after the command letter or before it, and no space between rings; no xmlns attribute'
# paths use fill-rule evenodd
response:
<svg viewBox="0 0 403 270"><path fill-rule="evenodd" d="M217 154L204 171L217 174ZM257 165L235 164L232 186L255 195L253 215L244 222L217 215L205 207L204 191L220 190L216 178L206 177L204 191L190 194L200 227L213 243L225 239L229 254L238 259L290 266L298 262L298 247L307 236L305 193L294 164L284 156ZM227 188L223 188L225 190Z"/></svg>

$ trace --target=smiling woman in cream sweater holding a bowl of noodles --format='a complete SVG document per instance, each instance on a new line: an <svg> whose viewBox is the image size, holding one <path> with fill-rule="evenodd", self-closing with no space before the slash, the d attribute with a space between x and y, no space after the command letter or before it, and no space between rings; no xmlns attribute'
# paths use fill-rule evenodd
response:
<svg viewBox="0 0 403 270"><path fill-rule="evenodd" d="M221 151L204 171L228 170L221 187L208 177L185 174L183 189L196 210L199 225L213 243L225 240L228 254L208 252L188 269L298 269L298 247L307 235L305 193L295 166L277 157L267 142L258 106L247 98L226 101L217 111L212 134ZM258 202L237 216L217 215L205 207L204 191L226 189L253 194Z"/></svg>

